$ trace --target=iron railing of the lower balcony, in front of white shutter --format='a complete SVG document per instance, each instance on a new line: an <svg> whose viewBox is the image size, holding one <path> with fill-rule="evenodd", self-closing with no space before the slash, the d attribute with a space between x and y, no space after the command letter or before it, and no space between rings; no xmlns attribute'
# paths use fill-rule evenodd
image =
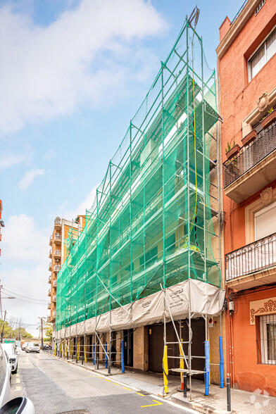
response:
<svg viewBox="0 0 276 414"><path fill-rule="evenodd" d="M276 266L276 233L225 255L226 281Z"/></svg>

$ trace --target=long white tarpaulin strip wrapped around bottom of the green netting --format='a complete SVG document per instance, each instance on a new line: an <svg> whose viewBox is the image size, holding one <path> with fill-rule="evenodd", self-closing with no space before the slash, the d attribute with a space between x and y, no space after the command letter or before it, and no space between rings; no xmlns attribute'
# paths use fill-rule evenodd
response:
<svg viewBox="0 0 276 414"><path fill-rule="evenodd" d="M90 318L78 322L70 327L56 332L56 339L94 334L97 332L108 332L111 330L129 329L163 322L164 311L166 320L185 319L189 315L189 303L193 318L201 315L215 316L222 311L225 299L225 289L220 289L199 280L185 280L155 294L146 296L136 302L116 308L111 312L103 313L96 318ZM168 305L166 304L168 303ZM170 307L170 313L168 306Z"/></svg>

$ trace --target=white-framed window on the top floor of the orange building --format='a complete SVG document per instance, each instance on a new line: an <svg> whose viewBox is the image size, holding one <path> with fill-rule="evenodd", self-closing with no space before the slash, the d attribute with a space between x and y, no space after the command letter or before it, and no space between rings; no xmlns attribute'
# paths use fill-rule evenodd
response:
<svg viewBox="0 0 276 414"><path fill-rule="evenodd" d="M259 46L258 50L249 58L249 81L263 68L276 52L276 29Z"/></svg>

